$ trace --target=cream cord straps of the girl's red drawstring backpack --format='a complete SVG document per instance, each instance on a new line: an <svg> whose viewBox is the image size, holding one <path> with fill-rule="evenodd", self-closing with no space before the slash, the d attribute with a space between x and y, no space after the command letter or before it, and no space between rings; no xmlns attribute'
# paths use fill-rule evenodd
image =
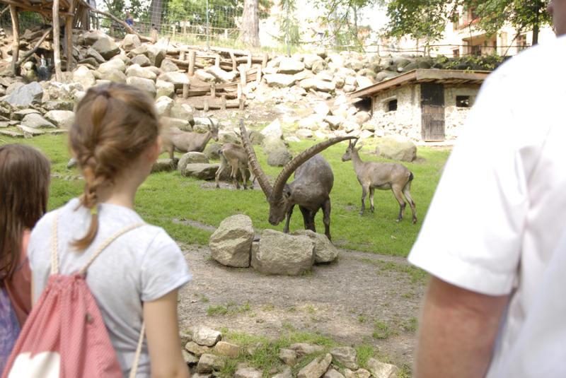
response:
<svg viewBox="0 0 566 378"><path fill-rule="evenodd" d="M54 217L53 217L52 240L51 240L51 274L59 273L59 257L57 256L57 247L58 247L57 246L57 220L58 220L58 218L59 218L59 210L55 211L55 214L54 214ZM129 230L133 230L134 228L138 228L139 226L144 225L144 224L145 223L142 222L142 223L134 223L132 225L126 226L125 228L122 228L122 230L116 232L114 235L110 236L107 240L105 240L105 242L103 242L103 244L101 244L100 247L98 247L98 249L96 249L96 252L94 252L93 256L91 256L91 259L89 259L87 261L87 263L85 264L85 266L83 266L81 268L81 270L79 271L81 276L84 276L88 266L90 266L92 264L92 262L100 254L100 252L103 252L103 250L106 247L108 247L108 244L113 242L120 235L125 234ZM132 364L132 370L130 370L130 372L129 372L129 378L136 377L137 365L139 363L139 356L141 355L141 347L142 347L142 345L144 345L145 331L146 331L146 322L144 320L141 323L141 331L139 333L139 341L137 343L136 355L134 357L134 362Z"/></svg>

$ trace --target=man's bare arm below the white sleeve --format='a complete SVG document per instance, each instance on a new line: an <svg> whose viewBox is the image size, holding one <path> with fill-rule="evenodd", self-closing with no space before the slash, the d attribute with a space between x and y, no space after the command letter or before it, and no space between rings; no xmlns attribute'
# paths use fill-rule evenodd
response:
<svg viewBox="0 0 566 378"><path fill-rule="evenodd" d="M433 276L422 306L415 377L484 377L507 299Z"/></svg>

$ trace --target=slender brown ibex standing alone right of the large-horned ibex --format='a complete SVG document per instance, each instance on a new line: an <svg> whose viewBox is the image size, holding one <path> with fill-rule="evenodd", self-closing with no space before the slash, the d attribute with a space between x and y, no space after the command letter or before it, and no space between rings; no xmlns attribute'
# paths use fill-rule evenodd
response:
<svg viewBox="0 0 566 378"><path fill-rule="evenodd" d="M400 163L378 163L374 161L363 162L359 158L359 150L362 147L355 148L358 139L348 144L346 153L342 156L342 161L352 160L354 164L354 171L358 178L359 184L362 185L362 210L359 215L362 215L366 210L366 195L369 191L369 201L371 207L369 211L374 211L374 191L375 189L388 190L391 189L397 199L400 211L399 216L395 222L399 222L405 215L406 203L403 200L401 193L405 194L412 211L412 223L417 222L417 215L415 215L415 201L411 197L411 182L412 172Z"/></svg>

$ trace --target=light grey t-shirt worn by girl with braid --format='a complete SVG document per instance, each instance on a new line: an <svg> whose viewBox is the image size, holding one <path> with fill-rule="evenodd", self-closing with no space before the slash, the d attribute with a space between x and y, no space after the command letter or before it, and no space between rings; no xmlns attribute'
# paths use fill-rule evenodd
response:
<svg viewBox="0 0 566 378"><path fill-rule="evenodd" d="M72 199L59 210L59 273L79 271L90 256L115 232L143 222L139 215L122 206L98 206L98 232L91 245L76 252L69 242L86 234L91 213ZM35 283L35 298L47 285L51 269L51 234L54 212L47 213L33 228L28 256ZM173 239L154 225L142 225L118 237L93 261L86 283L96 300L110 341L125 377L132 367L143 322L142 302L157 300L191 280L187 262ZM137 377L149 377L147 345L141 350Z"/></svg>

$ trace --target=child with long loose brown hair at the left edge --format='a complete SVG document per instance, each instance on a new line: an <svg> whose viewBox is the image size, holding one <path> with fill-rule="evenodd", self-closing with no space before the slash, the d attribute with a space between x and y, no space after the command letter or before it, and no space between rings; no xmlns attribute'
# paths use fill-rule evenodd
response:
<svg viewBox="0 0 566 378"><path fill-rule="evenodd" d="M0 177L0 289L3 298L9 298L2 301L3 321L13 313L21 327L31 310L28 242L31 229L47 211L50 161L33 147L6 144L0 146ZM10 339L19 331L10 333L9 324L2 324L0 372L13 348Z"/></svg>

